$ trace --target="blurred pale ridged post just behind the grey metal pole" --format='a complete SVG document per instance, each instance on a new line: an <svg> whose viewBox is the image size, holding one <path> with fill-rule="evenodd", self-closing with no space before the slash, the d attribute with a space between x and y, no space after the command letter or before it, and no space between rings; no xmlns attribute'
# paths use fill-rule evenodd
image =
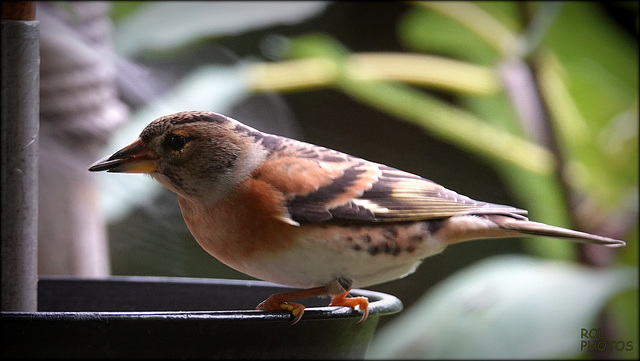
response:
<svg viewBox="0 0 640 361"><path fill-rule="evenodd" d="M118 99L110 4L38 2L40 274L110 273L95 177L87 167L128 114Z"/></svg>

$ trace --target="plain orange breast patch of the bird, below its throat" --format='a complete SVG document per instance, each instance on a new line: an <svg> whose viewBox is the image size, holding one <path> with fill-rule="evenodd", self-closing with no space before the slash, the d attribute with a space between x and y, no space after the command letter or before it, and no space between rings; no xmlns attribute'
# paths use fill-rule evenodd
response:
<svg viewBox="0 0 640 361"><path fill-rule="evenodd" d="M214 204L202 205L180 196L178 200L200 246L232 267L288 249L300 229L278 219L286 212L283 194L254 178L238 184Z"/></svg>

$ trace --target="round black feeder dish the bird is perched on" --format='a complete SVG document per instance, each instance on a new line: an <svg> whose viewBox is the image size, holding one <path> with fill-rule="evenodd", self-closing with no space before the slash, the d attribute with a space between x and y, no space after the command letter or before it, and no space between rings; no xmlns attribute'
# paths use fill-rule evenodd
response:
<svg viewBox="0 0 640 361"><path fill-rule="evenodd" d="M256 311L289 290L262 281L124 277L40 277L38 312L2 312L2 354L24 358L364 358L380 316L396 297L369 298L369 318L329 298L287 311Z"/></svg>

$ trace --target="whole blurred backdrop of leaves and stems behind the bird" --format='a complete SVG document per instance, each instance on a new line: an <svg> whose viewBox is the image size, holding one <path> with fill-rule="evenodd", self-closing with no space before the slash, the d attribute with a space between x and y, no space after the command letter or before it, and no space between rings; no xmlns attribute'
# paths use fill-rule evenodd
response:
<svg viewBox="0 0 640 361"><path fill-rule="evenodd" d="M37 18L40 274L249 279L151 178L87 171L156 117L211 110L627 242L449 247L371 287L405 310L368 357L638 358L637 2L39 2Z"/></svg>

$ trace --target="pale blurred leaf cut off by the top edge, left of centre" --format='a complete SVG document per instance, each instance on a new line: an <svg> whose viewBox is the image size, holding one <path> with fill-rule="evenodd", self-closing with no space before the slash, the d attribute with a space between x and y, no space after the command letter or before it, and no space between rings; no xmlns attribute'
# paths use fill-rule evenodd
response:
<svg viewBox="0 0 640 361"><path fill-rule="evenodd" d="M291 25L322 12L324 1L150 2L120 21L114 32L119 54L182 48L198 39L267 26Z"/></svg>

